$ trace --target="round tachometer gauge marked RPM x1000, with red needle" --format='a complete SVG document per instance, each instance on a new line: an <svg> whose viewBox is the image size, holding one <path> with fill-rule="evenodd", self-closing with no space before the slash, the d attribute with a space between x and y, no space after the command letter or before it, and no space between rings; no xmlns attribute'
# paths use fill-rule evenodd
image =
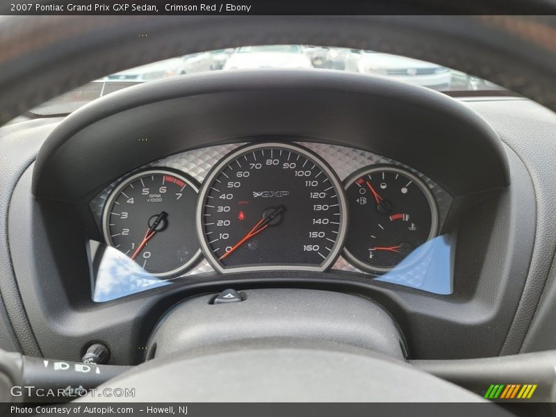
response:
<svg viewBox="0 0 556 417"><path fill-rule="evenodd" d="M186 174L149 169L124 179L102 216L106 243L155 277L173 277L199 256L195 206L199 186Z"/></svg>

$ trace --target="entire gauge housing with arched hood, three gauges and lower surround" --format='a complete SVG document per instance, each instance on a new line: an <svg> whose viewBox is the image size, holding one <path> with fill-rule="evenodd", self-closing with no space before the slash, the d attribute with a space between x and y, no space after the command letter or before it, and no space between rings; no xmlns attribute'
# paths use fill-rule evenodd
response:
<svg viewBox="0 0 556 417"><path fill-rule="evenodd" d="M38 152L8 231L37 345L79 359L102 341L111 363L139 363L180 300L306 288L379 302L410 358L512 352L539 265L524 106L535 112L357 74L238 71L8 126Z"/></svg>

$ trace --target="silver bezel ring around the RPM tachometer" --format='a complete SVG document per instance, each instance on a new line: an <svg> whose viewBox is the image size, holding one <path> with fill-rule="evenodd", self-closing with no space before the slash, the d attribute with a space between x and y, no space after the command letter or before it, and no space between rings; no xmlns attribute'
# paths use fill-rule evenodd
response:
<svg viewBox="0 0 556 417"><path fill-rule="evenodd" d="M195 190L195 193L197 194L197 200L199 199L199 188L200 188L199 182L197 182L195 179L193 179L193 177L190 177L185 172L182 172L180 170L174 170L172 168L165 168L165 167L146 167L142 170L135 171L132 174L129 174L128 176L120 179L120 181L113 188L113 190L111 190L110 194L108 194L108 197L106 197L106 203L104 204L104 207L102 209L102 218L101 218L102 236L104 238L104 241L106 242L106 245L115 248L113 240L110 235L109 226L108 226L108 213L110 212L110 208L114 204L114 199L117 197L117 195L120 195L120 191L126 188L126 186L128 186L129 183L136 181L136 179L140 177L145 177L148 174L169 174L172 175L172 177L177 177L178 179L181 179L181 181L186 182L188 186L193 188L193 190ZM168 278L168 279L179 277L180 275L183 275L184 272L192 268L193 265L196 265L199 262L201 257L202 257L202 250L199 247L197 249L197 252L195 252L195 254L191 257L191 259L186 263L184 263L183 265L181 265L179 268L175 268L174 270L170 270L167 272L149 272L149 271L147 272L152 277Z"/></svg>

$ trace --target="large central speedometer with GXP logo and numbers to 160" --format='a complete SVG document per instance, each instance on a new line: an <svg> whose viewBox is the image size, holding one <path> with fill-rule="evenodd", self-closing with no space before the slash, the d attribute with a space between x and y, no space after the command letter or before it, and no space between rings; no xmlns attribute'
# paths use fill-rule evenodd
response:
<svg viewBox="0 0 556 417"><path fill-rule="evenodd" d="M343 189L303 147L240 148L206 179L197 228L220 272L318 270L334 262L345 235Z"/></svg>

